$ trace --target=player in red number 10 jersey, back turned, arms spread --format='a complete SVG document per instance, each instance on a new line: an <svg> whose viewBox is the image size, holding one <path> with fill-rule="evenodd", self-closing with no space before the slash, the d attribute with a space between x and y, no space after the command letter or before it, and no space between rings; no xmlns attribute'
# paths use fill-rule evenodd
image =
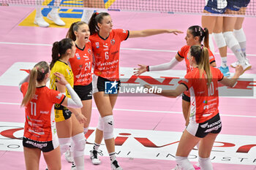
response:
<svg viewBox="0 0 256 170"><path fill-rule="evenodd" d="M218 82L233 87L238 77L243 74L243 67L238 65L236 73L231 79L224 77L219 69L209 65L208 50L206 47L192 46L189 50L189 63L195 69L188 72L176 90L162 90L159 95L176 97L189 90L191 108L189 112L189 125L184 130L176 151L176 170L192 170L194 167L187 156L200 142L198 149L198 162L202 170L213 170L211 165L211 148L221 131L222 122L219 117ZM145 85L151 88L150 85Z"/></svg>

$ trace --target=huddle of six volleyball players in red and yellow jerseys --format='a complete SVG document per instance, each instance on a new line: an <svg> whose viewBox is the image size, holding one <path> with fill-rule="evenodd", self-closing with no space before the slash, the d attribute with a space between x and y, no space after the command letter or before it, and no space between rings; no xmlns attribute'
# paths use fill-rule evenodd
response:
<svg viewBox="0 0 256 170"><path fill-rule="evenodd" d="M216 1L217 3L217 1ZM248 2L249 3L249 2ZM215 4L208 4L215 5ZM90 151L91 162L101 163L99 147L105 140L110 166L121 170L116 159L113 134L113 107L117 94L105 94L105 82L119 79L119 53L121 42L129 38L157 34L181 34L176 29L146 29L129 31L113 29L108 12L94 12L89 24L72 23L66 38L54 42L52 61L37 63L25 80L20 82L23 93L26 123L23 149L26 169L39 169L41 151L48 170L61 169L61 155L72 163L71 169L82 170L84 165L85 134L91 120L92 98L99 111L94 146ZM187 74L175 90L162 90L158 95L176 97L182 94L182 110L186 128L176 151L175 169L213 169L210 160L211 148L222 129L219 116L218 82L233 87L244 73L243 61L236 64L236 73L231 79L217 69L214 54L209 46L209 30L190 26L185 40L187 45L178 50L175 58L157 66L139 64L135 75L172 69L185 60ZM202 45L203 42L203 45ZM242 66L241 66L242 65ZM93 73L92 73L92 70ZM50 87L46 83L50 80ZM150 85L144 88L151 89ZM198 163L192 165L187 156L198 147Z"/></svg>

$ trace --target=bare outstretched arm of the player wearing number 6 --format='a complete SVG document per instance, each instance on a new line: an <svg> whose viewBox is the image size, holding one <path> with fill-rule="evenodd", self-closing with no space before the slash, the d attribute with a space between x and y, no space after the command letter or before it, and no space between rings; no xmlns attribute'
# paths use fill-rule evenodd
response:
<svg viewBox="0 0 256 170"><path fill-rule="evenodd" d="M165 33L173 33L178 35L178 34L182 34L183 32L176 29L145 29L140 31L129 31L129 38L153 36L153 35L165 34Z"/></svg>

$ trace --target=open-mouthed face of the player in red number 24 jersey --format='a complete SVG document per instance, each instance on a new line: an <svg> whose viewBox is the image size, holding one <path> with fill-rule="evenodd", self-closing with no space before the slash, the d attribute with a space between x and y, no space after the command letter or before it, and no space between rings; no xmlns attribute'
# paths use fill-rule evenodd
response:
<svg viewBox="0 0 256 170"><path fill-rule="evenodd" d="M89 26L84 23L78 27L78 31L74 31L78 42L89 42L90 30Z"/></svg>

